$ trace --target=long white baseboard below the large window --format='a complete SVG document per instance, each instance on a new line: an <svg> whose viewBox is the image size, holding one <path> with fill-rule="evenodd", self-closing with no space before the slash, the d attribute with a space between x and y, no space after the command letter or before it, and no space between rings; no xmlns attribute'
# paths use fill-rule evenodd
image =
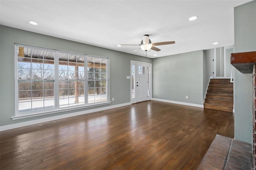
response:
<svg viewBox="0 0 256 170"><path fill-rule="evenodd" d="M129 103L123 103L123 104L120 104L120 105L101 107L101 108L98 108L98 109L90 109L90 110L86 110L86 111L68 113L68 114L58 115L58 116L53 116L53 117L46 117L46 118L43 118L43 119L37 119L37 120L33 120L33 121L14 123L14 124L11 124L11 125L0 126L0 131L10 130L10 129L19 128L19 127L25 127L25 126L29 126L29 125L35 125L35 124L49 122L49 121L55 121L55 120L58 120L58 119L64 119L64 118L68 118L68 117L84 115L84 114L98 112L98 111L104 111L104 110L107 110L107 109L114 109L114 108L117 108L117 107L127 106L127 105L131 105L131 104L132 103L129 102Z"/></svg>

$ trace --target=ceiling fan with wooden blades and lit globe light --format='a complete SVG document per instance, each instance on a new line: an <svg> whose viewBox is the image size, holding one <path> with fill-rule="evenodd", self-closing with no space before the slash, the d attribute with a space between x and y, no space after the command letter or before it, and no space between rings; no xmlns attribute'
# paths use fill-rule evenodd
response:
<svg viewBox="0 0 256 170"><path fill-rule="evenodd" d="M149 39L149 35L144 35L140 44L138 44L140 46L140 48L144 51L148 51L150 49L154 50L154 51L160 51L161 49L155 47L157 45L168 45L168 44L173 44L175 43L175 41L170 41L170 42L158 42L158 43L152 43L151 40ZM120 45L136 45L136 44L120 44ZM138 49L140 49L138 48ZM134 51L137 51L138 49L135 49ZM132 52L134 52L132 51Z"/></svg>

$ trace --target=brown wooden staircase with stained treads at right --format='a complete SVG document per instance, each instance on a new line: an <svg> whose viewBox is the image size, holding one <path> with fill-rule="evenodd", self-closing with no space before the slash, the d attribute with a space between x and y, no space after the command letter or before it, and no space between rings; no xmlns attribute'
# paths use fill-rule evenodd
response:
<svg viewBox="0 0 256 170"><path fill-rule="evenodd" d="M233 112L233 83L230 79L211 79L204 108Z"/></svg>

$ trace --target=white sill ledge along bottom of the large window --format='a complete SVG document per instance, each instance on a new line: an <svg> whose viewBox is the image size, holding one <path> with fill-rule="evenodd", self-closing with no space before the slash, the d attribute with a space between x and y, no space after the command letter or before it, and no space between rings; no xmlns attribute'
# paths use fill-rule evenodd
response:
<svg viewBox="0 0 256 170"><path fill-rule="evenodd" d="M72 108L69 107L69 108L54 109L54 111L53 110L48 110L48 111L40 111L40 112L34 112L34 113L24 113L24 114L15 115L14 117L11 117L11 118L12 118L12 120L25 119L25 118L29 118L29 117L50 115L50 114L54 114L54 113L73 111L73 110L84 109L84 108L89 108L89 107L109 105L110 103L111 102L104 102L104 103L90 104L90 105L80 106L80 107L72 107Z"/></svg>

